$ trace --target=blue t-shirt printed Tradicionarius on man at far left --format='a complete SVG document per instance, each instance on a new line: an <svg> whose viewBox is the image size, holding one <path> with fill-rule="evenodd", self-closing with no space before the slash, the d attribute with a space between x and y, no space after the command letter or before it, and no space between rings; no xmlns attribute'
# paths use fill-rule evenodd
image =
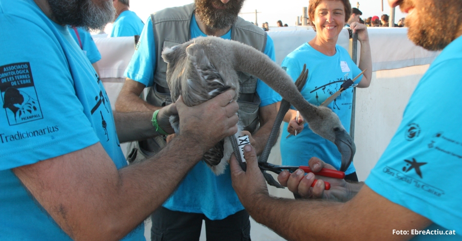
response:
<svg viewBox="0 0 462 241"><path fill-rule="evenodd" d="M11 169L98 142L126 166L111 106L68 28L33 0L0 0L0 23L0 239L71 240ZM141 225L126 240L143 233Z"/></svg>

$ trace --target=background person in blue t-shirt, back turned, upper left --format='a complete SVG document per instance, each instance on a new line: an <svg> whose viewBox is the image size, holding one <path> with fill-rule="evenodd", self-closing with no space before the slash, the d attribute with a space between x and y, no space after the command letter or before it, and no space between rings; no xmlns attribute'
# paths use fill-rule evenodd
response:
<svg viewBox="0 0 462 241"><path fill-rule="evenodd" d="M141 35L144 23L136 13L128 10L129 0L113 0L115 21L112 24L111 37L130 37Z"/></svg>

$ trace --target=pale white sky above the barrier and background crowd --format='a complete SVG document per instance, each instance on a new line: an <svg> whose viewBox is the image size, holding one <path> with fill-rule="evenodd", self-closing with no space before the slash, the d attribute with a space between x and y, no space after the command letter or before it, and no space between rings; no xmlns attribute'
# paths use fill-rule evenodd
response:
<svg viewBox="0 0 462 241"><path fill-rule="evenodd" d="M143 20L153 12L164 8L182 6L194 2L194 0L130 0L130 10L136 12ZM358 1L350 1L352 7L356 7ZM381 0L362 0L359 1L359 10L362 12L361 18L382 14L390 15L390 6L387 0L383 0L383 12ZM268 22L269 26L277 26L276 22L281 20L283 24L295 26L296 17L302 15L302 8L308 7L308 0L245 0L240 16L249 22L255 23L255 10L257 10L258 25ZM251 12L251 13L250 13ZM247 14L250 13L250 14ZM395 10L395 23L398 19L405 17L397 8Z"/></svg>

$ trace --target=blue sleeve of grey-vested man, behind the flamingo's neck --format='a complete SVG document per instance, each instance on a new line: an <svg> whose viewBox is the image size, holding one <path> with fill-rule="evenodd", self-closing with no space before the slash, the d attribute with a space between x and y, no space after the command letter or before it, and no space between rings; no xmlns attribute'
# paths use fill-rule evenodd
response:
<svg viewBox="0 0 462 241"><path fill-rule="evenodd" d="M269 35L267 35L266 38L266 47L264 54L268 55L268 57L271 58L272 61L276 62L273 39L271 39ZM261 99L260 107L271 105L282 100L281 95L279 95L276 91L274 91L260 79L257 79L257 93Z"/></svg>

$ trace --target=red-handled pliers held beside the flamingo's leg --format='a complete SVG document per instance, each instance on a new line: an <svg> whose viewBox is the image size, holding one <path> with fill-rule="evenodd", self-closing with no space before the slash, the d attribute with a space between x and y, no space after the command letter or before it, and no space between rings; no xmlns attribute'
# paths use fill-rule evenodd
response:
<svg viewBox="0 0 462 241"><path fill-rule="evenodd" d="M290 173L293 173L297 169L302 169L304 172L309 173L313 172L310 167L308 166L280 166L280 165L274 165L271 163L258 163L258 167L261 170L265 171L272 171L276 174L279 174L282 172L282 170L287 170ZM326 176L326 177L332 177L332 178L337 178L337 179L343 179L345 178L345 173L337 170L332 170L332 169L327 169L327 168L322 168L321 171L319 172L313 172L316 175L320 176ZM314 182L311 184L312 187L316 185L317 179L314 180ZM324 182L325 184L325 190L331 189L331 184L329 182Z"/></svg>

